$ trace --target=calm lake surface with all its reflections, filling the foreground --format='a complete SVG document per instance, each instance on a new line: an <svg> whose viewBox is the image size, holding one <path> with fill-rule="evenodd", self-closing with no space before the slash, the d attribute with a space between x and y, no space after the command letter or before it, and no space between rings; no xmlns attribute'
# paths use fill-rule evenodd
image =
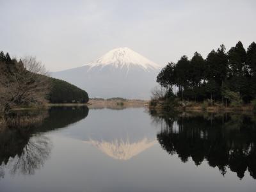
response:
<svg viewBox="0 0 256 192"><path fill-rule="evenodd" d="M52 108L35 118L0 130L0 191L256 191L253 115Z"/></svg>

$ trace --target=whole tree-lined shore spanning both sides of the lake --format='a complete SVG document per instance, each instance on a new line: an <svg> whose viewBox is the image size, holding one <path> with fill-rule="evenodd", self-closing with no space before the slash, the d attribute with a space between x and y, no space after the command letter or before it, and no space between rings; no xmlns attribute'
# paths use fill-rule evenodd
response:
<svg viewBox="0 0 256 192"><path fill-rule="evenodd" d="M0 114L13 108L41 108L49 104L81 104L88 93L73 84L48 76L36 58L19 61L0 52ZM256 109L256 44L245 50L241 42L226 51L221 45L207 58L195 52L168 63L156 77L160 88L152 91L151 109L244 111ZM92 100L94 105L147 106L145 102Z"/></svg>

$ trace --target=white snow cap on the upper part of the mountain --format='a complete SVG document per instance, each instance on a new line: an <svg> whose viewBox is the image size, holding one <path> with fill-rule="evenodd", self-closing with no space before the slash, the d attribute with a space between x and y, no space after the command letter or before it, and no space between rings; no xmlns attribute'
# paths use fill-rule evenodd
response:
<svg viewBox="0 0 256 192"><path fill-rule="evenodd" d="M148 60L147 58L138 54L138 52L132 51L127 47L113 49L98 60L92 61L91 63L86 64L86 66L93 67L106 67L113 66L115 68L131 68L131 67L140 67L143 70L157 70L159 65Z"/></svg>

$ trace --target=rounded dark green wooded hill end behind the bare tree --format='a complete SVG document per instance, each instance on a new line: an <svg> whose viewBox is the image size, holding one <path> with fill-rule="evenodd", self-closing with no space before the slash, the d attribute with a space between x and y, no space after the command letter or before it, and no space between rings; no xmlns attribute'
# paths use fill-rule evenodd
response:
<svg viewBox="0 0 256 192"><path fill-rule="evenodd" d="M51 78L51 84L49 93L49 102L51 103L86 103L89 100L88 93L66 81Z"/></svg>

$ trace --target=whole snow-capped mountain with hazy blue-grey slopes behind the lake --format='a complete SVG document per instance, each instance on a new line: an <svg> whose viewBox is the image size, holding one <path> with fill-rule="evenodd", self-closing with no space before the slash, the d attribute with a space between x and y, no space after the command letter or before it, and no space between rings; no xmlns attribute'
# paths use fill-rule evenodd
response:
<svg viewBox="0 0 256 192"><path fill-rule="evenodd" d="M131 49L113 49L82 67L52 76L83 88L90 97L149 99L160 67Z"/></svg>

